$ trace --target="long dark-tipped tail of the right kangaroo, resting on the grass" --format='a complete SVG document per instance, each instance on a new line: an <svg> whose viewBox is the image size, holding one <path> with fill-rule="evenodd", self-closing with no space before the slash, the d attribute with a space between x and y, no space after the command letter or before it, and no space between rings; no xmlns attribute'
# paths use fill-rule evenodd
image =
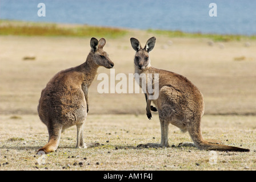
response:
<svg viewBox="0 0 256 182"><path fill-rule="evenodd" d="M200 126L193 126L187 128L190 137L192 138L194 145L199 148L199 150L215 150L215 151L236 151L236 152L249 152L249 149L239 148L233 146L226 146L223 144L210 143L203 139L201 134Z"/></svg>

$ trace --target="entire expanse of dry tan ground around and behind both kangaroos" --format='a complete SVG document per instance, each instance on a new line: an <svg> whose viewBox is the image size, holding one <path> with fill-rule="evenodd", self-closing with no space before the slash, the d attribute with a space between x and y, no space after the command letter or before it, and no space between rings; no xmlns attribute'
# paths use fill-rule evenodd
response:
<svg viewBox="0 0 256 182"><path fill-rule="evenodd" d="M250 40L250 47L244 46L249 40L243 38L209 46L210 38L170 38L127 30L118 39L106 39L105 51L115 63L116 74L134 72L130 37L145 44L151 36L157 37L150 53L151 64L186 76L203 93L203 136L242 145L251 152L218 152L217 164L211 165L209 152L196 148L137 148L140 143L160 141L158 116L147 120L142 94L99 94L100 81L95 80L89 89L90 110L84 133L86 142L104 145L75 149L76 129L71 127L62 135L58 151L46 156L45 165L37 165L35 150L47 142L46 126L37 116L41 90L55 73L85 61L90 38L2 35L0 170L62 170L67 164L71 167L63 170L255 170L256 41ZM35 59L24 61L23 57ZM243 60L235 61L239 57ZM109 74L110 70L99 68L98 72ZM170 126L170 144L177 146L187 140L189 134ZM9 164L3 165L6 162ZM75 162L84 163L82 167L73 166Z"/></svg>

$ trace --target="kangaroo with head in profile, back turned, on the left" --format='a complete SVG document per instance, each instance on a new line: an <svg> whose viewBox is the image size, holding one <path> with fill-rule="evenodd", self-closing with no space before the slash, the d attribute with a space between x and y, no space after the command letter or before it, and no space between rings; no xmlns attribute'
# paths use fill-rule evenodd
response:
<svg viewBox="0 0 256 182"><path fill-rule="evenodd" d="M114 67L114 63L102 49L105 44L104 38L99 41L91 38L91 51L85 63L57 73L42 90L38 114L47 126L49 141L38 151L55 151L61 132L73 125L77 126L76 148L97 146L97 143L83 142L83 123L89 111L88 89L97 75L98 67Z"/></svg>

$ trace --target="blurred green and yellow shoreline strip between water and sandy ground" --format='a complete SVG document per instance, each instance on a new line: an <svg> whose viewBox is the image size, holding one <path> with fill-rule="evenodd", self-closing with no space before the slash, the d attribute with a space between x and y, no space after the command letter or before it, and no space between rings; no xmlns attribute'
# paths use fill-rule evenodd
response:
<svg viewBox="0 0 256 182"><path fill-rule="evenodd" d="M26 32L27 28L33 29L33 32ZM44 29L47 28L47 29ZM256 40L255 35L242 35L242 34L214 34L214 33L202 33L202 32L186 32L180 30L159 30L149 28L146 30L126 28L126 27L114 27L114 26L94 26L90 24L78 24L78 23L54 23L54 22L27 22L23 20L9 20L0 19L0 35L18 35L18 36L77 36L77 37L89 37L90 35L81 34L79 30L81 28L93 28L96 34L103 34L101 31L110 32L110 38L117 38L119 36L127 34L132 31L144 31L157 35L166 35L170 38L209 38L219 42L229 42L231 40L250 39ZM15 29L14 31L12 31ZM49 35L40 34L40 31L49 31ZM27 30L28 31L28 30ZM37 31L39 31L37 33ZM59 31L59 32L58 32ZM64 31L64 32L63 32ZM111 34L111 31L113 32ZM120 34L114 32L117 31ZM117 35L116 35L117 34Z"/></svg>

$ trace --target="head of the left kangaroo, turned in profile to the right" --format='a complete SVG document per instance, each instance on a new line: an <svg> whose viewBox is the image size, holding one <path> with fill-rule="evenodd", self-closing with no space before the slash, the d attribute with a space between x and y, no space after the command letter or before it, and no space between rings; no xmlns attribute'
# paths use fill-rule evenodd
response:
<svg viewBox="0 0 256 182"><path fill-rule="evenodd" d="M109 55L103 51L103 47L106 44L106 40L104 38L99 39L99 41L95 38L91 38L91 52L94 54L94 63L105 67L105 68L113 68L114 63L109 59Z"/></svg>

